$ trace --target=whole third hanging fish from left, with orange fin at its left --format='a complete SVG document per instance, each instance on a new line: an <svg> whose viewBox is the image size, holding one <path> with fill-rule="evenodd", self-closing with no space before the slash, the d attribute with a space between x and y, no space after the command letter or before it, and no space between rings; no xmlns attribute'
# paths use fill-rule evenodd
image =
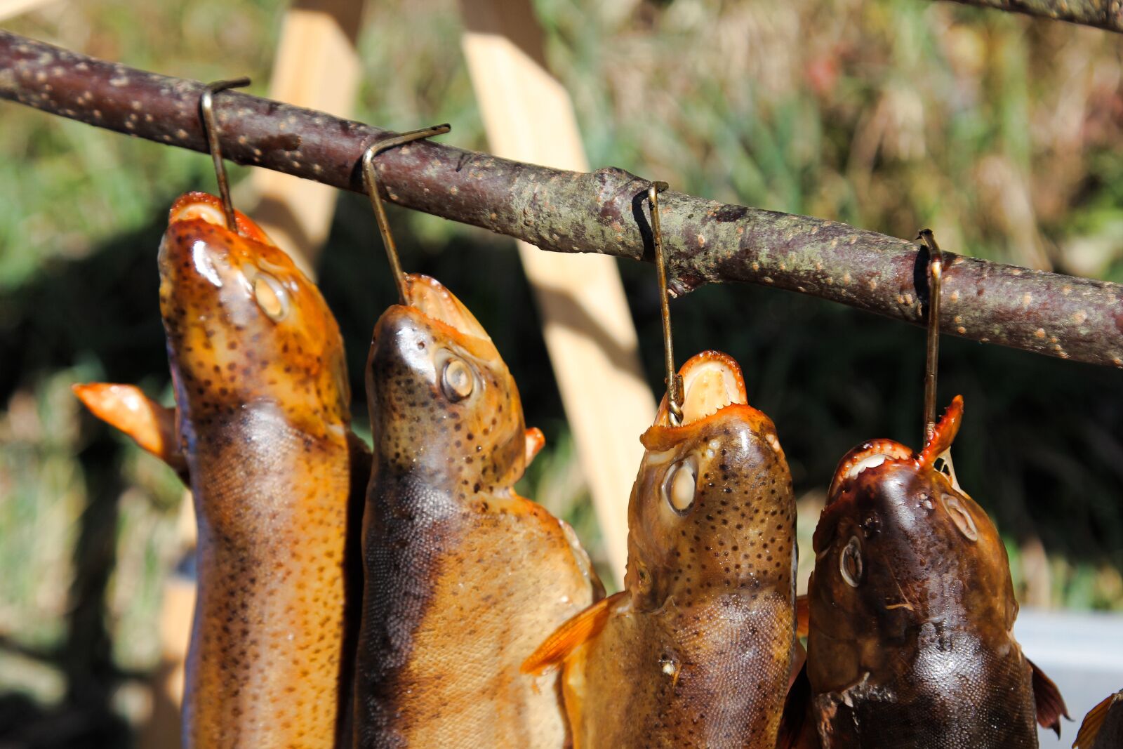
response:
<svg viewBox="0 0 1123 749"><path fill-rule="evenodd" d="M795 502L770 419L740 367L705 351L681 369L628 505L624 591L523 664L560 664L574 746L777 743L795 648Z"/></svg>

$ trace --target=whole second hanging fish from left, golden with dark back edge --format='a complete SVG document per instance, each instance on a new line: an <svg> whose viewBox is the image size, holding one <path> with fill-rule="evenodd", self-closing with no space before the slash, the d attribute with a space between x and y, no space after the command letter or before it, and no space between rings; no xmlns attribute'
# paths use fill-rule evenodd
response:
<svg viewBox="0 0 1123 749"><path fill-rule="evenodd" d="M519 665L600 597L569 527L514 493L541 432L442 285L405 277L367 364L374 469L356 747L562 747L556 674Z"/></svg>

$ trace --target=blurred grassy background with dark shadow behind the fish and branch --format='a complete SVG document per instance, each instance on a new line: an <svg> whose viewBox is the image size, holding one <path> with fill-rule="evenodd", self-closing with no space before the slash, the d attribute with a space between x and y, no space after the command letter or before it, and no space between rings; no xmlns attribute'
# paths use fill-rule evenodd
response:
<svg viewBox="0 0 1123 749"><path fill-rule="evenodd" d="M446 141L486 149L456 2L368 6L357 118L449 121ZM1116 36L920 0L536 6L594 165L901 237L929 226L953 252L1123 281ZM282 12L266 0L60 0L3 26L170 75L247 74L264 93ZM119 746L159 656L182 490L69 386L133 382L171 402L155 250L174 197L212 190L213 175L203 155L15 104L0 104L0 745ZM547 433L524 493L600 557L513 244L392 219L405 267L475 311L528 423ZM318 267L360 429L369 331L394 299L375 234L364 199L340 195ZM621 272L659 387L654 273ZM681 358L722 348L743 365L791 460L801 536L843 451L917 440L921 330L750 286L700 290L673 314ZM947 339L940 390L966 398L956 466L1007 539L1022 601L1123 608L1123 373Z"/></svg>

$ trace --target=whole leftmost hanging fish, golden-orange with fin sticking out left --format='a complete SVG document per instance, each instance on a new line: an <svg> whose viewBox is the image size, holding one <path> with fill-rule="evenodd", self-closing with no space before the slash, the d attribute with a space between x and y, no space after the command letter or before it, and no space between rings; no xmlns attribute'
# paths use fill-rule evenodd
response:
<svg viewBox="0 0 1123 749"><path fill-rule="evenodd" d="M177 409L77 385L190 483L199 595L184 747L332 747L349 734L369 454L350 433L343 340L316 286L212 195L172 205L161 313Z"/></svg>

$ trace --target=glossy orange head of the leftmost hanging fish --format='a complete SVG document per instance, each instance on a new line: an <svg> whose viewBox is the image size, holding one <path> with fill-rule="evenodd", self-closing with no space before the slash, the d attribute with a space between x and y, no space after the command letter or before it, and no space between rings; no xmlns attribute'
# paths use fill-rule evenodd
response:
<svg viewBox="0 0 1123 749"><path fill-rule="evenodd" d="M316 285L252 220L226 226L218 198L172 205L159 245L159 307L181 419L259 401L308 433L340 430L350 392L343 339Z"/></svg>

